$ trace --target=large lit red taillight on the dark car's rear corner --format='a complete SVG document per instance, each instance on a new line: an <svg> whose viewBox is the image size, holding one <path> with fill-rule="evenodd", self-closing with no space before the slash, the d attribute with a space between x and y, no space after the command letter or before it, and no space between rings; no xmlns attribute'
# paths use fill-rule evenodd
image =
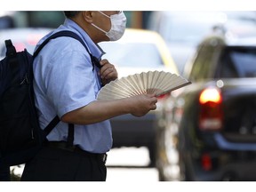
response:
<svg viewBox="0 0 256 192"><path fill-rule="evenodd" d="M222 97L217 88L207 88L199 96L199 128L201 130L220 130L223 121Z"/></svg>

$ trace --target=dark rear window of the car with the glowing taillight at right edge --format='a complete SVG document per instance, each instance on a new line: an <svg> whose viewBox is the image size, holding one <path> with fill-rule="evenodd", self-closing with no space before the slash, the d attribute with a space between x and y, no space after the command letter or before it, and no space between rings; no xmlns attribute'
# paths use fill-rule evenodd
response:
<svg viewBox="0 0 256 192"><path fill-rule="evenodd" d="M256 77L256 47L227 47L222 53L217 77Z"/></svg>

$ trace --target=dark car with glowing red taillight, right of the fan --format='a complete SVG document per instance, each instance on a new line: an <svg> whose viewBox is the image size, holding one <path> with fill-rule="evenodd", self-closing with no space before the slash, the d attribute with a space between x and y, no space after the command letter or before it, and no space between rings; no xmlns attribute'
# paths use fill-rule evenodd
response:
<svg viewBox="0 0 256 192"><path fill-rule="evenodd" d="M160 180L256 180L256 33L236 32L206 37L164 101Z"/></svg>

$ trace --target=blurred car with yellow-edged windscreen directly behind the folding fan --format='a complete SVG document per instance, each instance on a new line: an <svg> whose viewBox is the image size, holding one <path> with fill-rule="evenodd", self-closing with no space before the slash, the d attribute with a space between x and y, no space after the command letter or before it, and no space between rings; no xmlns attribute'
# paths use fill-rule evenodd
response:
<svg viewBox="0 0 256 192"><path fill-rule="evenodd" d="M127 28L124 36L116 42L102 42L107 52L104 58L116 66L118 77L141 72L169 71L178 74L168 47L159 34L149 30ZM164 96L159 98L157 108L146 116L116 116L111 119L113 148L141 147L149 149L151 165L156 162L156 113L162 107Z"/></svg>

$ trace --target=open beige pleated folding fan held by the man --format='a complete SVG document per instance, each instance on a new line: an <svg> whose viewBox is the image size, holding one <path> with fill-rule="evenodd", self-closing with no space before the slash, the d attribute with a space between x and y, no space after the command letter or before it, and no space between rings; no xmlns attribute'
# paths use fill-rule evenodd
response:
<svg viewBox="0 0 256 192"><path fill-rule="evenodd" d="M155 93L156 96L172 92L191 84L187 79L164 71L148 71L125 76L100 89L98 100L117 100L138 94Z"/></svg>

